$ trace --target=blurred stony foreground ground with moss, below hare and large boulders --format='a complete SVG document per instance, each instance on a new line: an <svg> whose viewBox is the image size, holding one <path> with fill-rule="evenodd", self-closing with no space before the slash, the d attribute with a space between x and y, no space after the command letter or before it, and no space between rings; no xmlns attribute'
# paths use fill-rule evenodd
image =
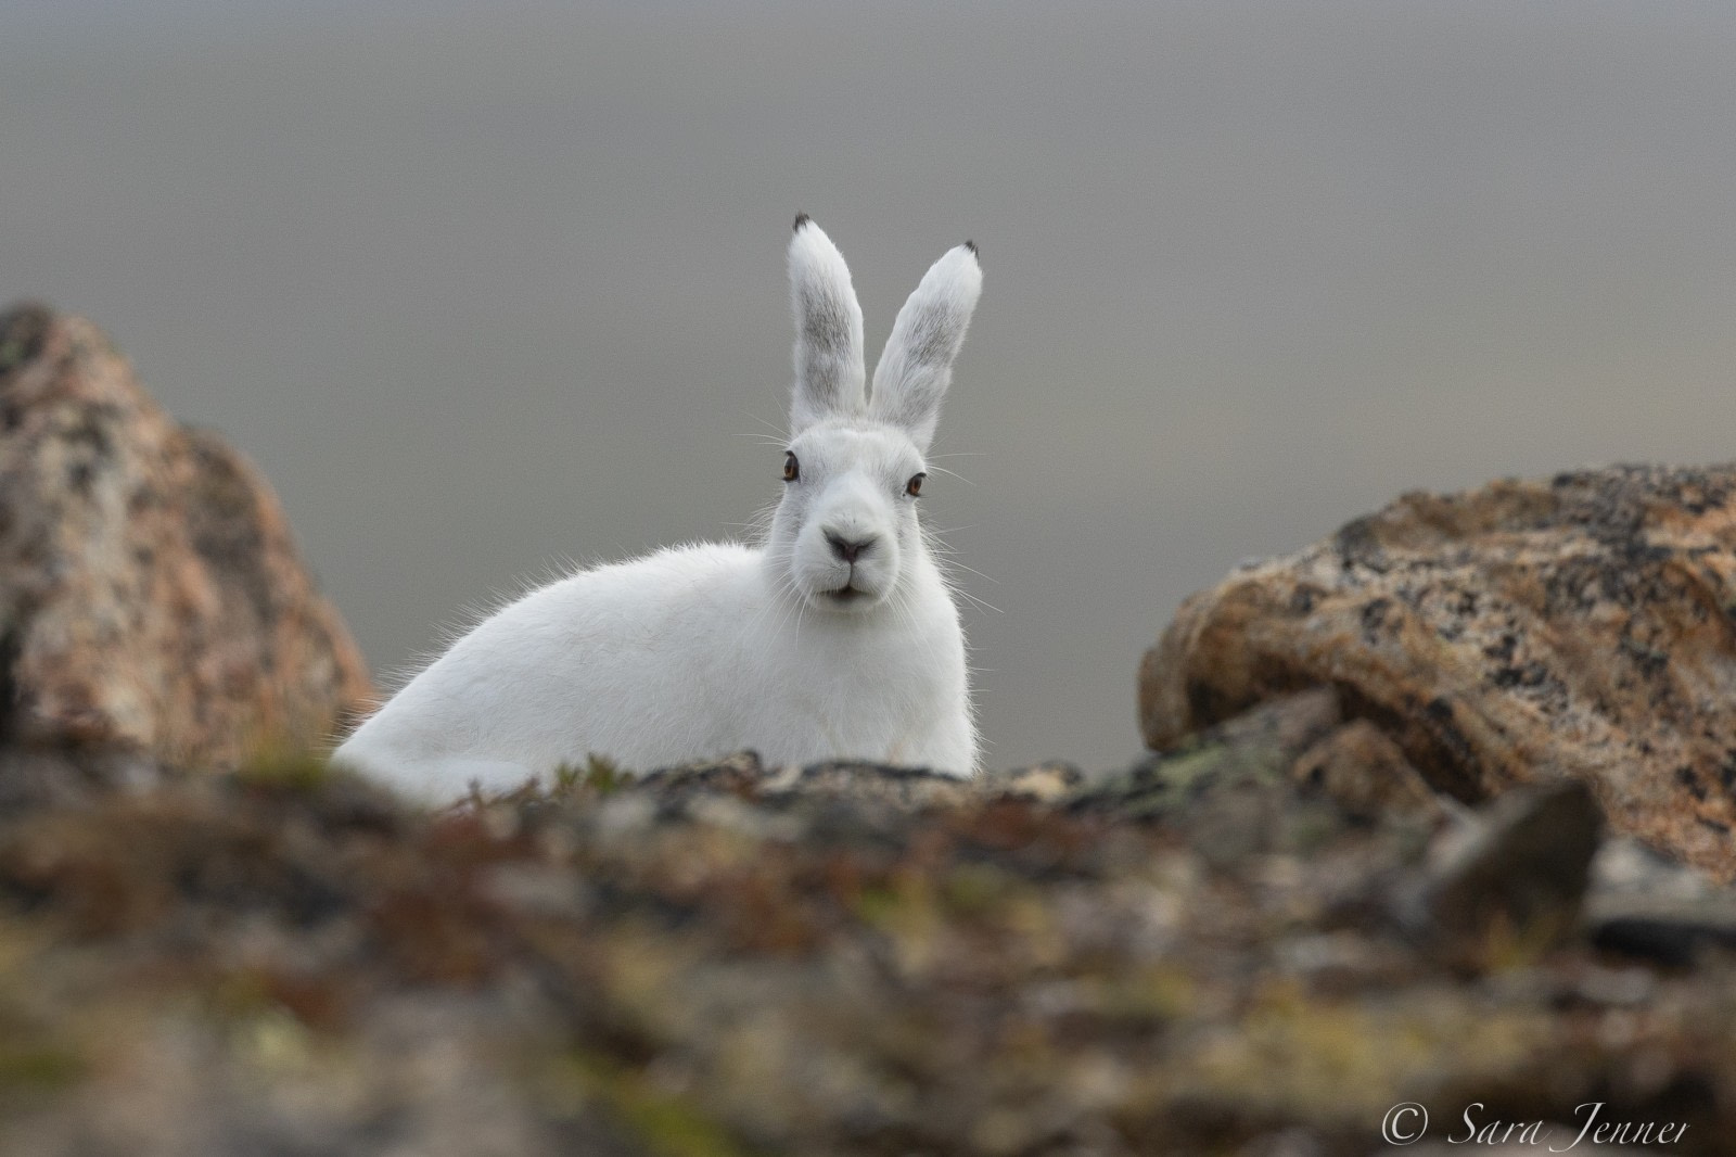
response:
<svg viewBox="0 0 1736 1157"><path fill-rule="evenodd" d="M1108 777L740 756L429 817L293 764L16 813L0 1152L1361 1157L1401 1101L1727 1152L1736 962L1677 916L1729 891L1587 863L1571 785L1342 803L1297 773L1340 717Z"/></svg>

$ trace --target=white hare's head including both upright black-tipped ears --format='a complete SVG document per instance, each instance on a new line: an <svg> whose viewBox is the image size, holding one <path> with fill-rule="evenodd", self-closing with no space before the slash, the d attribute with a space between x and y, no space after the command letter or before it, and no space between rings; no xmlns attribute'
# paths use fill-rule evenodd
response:
<svg viewBox="0 0 1736 1157"><path fill-rule="evenodd" d="M863 311L844 255L800 215L790 240L795 394L769 552L809 606L885 603L922 551L917 500L941 396L983 292L976 247L948 250L892 323L865 393Z"/></svg>

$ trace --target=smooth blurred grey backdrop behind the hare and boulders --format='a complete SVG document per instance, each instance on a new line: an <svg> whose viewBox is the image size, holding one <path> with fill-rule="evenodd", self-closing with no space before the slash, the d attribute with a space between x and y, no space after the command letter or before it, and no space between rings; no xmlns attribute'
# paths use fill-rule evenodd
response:
<svg viewBox="0 0 1736 1157"><path fill-rule="evenodd" d="M1736 5L0 0L0 299L259 462L377 672L778 497L797 210L877 353L983 304L924 504L991 764L1137 752L1175 605L1396 493L1736 457Z"/></svg>

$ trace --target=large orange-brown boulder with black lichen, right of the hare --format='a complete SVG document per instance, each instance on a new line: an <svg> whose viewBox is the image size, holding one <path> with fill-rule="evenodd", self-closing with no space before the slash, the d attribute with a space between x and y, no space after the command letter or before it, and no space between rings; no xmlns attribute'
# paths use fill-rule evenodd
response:
<svg viewBox="0 0 1736 1157"><path fill-rule="evenodd" d="M1733 466L1620 466L1404 495L1189 598L1141 667L1146 742L1335 686L1437 790L1581 780L1731 879L1733 492Z"/></svg>

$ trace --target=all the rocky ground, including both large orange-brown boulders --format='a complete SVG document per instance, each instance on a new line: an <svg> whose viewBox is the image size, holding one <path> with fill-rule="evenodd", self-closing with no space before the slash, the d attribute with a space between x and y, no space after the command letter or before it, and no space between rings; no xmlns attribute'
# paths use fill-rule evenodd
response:
<svg viewBox="0 0 1736 1157"><path fill-rule="evenodd" d="M281 754L370 690L264 481L0 314L0 1154L1736 1152L1733 500L1406 495L1154 624L1111 773L429 815Z"/></svg>

